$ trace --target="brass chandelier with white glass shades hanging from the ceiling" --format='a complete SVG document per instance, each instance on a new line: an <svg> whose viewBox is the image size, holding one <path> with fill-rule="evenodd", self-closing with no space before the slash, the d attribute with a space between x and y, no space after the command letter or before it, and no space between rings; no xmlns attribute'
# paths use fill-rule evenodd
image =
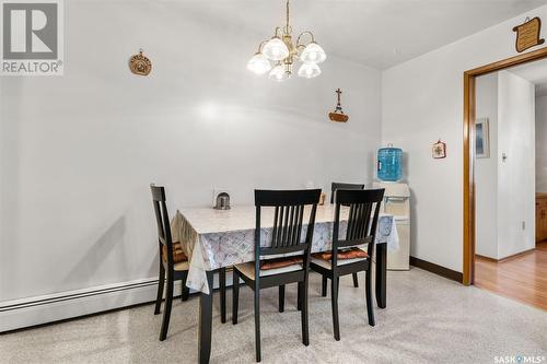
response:
<svg viewBox="0 0 547 364"><path fill-rule="evenodd" d="M302 39L309 37L310 42L304 44ZM321 74L318 63L327 58L323 48L315 43L312 32L303 32L292 43L292 27L289 24L289 0L287 0L287 23L283 27L276 27L275 34L269 40L258 45L258 51L247 62L247 69L256 74L269 72L268 78L275 81L284 81L291 78L292 68L296 60L302 62L298 75L313 79ZM271 64L274 62L274 67Z"/></svg>

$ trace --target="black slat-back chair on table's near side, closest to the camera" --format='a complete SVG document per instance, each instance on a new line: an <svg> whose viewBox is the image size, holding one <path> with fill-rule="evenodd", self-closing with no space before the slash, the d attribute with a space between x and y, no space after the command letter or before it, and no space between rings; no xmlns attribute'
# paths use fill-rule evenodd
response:
<svg viewBox="0 0 547 364"><path fill-rule="evenodd" d="M310 272L310 251L315 224L315 213L319 201L321 189L309 190L255 190L256 230L255 261L234 266L232 322L237 324L240 296L240 278L255 293L255 345L256 361L260 362L260 290L279 286L279 309L282 310L284 285L299 284L302 317L302 342L310 344L307 326L307 286ZM260 219L263 208L275 208L274 227L269 242L263 246L260 236ZM304 210L310 210L310 218L304 222ZM307 223L307 226L305 225ZM264 269L265 263L271 263L268 257L287 255L278 258L276 263L284 266L276 269ZM260 260L261 258L266 258ZM300 260L299 260L300 258ZM283 261L286 260L286 261ZM283 265L287 262L287 265ZM281 263L281 265L279 265Z"/></svg>

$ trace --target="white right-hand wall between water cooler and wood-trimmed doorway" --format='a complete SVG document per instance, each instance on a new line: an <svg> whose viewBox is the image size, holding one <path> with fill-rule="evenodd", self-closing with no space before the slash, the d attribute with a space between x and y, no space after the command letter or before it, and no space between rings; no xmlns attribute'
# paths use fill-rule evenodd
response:
<svg viewBox="0 0 547 364"><path fill-rule="evenodd" d="M408 153L411 255L463 270L463 73L516 55L513 26L538 8L382 73L382 140ZM433 160L439 138L447 157Z"/></svg>

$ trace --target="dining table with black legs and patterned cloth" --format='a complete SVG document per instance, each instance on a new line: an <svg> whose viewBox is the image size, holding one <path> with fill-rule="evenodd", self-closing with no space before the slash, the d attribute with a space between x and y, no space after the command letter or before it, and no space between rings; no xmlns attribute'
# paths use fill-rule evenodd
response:
<svg viewBox="0 0 547 364"><path fill-rule="evenodd" d="M305 213L310 213L306 210ZM341 207L339 234L344 236L349 208ZM171 230L173 242L179 242L188 257L186 286L199 293L198 357L209 363L212 334L213 274L221 268L255 260L256 207L234 206L229 210L183 208L176 211ZM307 221L307 219L304 219ZM317 206L312 253L330 250L335 206ZM267 246L274 226L274 209L261 211L260 242ZM303 228L306 225L304 224ZM375 250L375 296L380 308L386 307L387 249L398 249L398 235L393 215L381 213Z"/></svg>

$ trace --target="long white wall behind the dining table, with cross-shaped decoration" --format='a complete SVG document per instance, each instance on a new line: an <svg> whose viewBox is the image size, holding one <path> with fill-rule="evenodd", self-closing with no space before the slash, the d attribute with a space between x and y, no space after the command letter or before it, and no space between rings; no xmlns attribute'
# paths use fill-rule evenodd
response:
<svg viewBox="0 0 547 364"><path fill-rule="evenodd" d="M330 55L318 79L256 78L267 34L196 8L66 1L66 74L1 79L0 301L156 275L152 181L171 211L214 187L238 204L258 187L371 181L379 71ZM127 67L139 47L148 78ZM348 124L327 118L337 87Z"/></svg>

